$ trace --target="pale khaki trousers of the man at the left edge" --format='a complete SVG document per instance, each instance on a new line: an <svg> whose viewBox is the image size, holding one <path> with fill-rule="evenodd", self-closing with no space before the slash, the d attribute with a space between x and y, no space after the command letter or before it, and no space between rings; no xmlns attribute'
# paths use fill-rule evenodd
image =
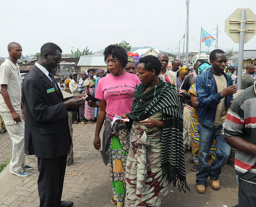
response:
<svg viewBox="0 0 256 207"><path fill-rule="evenodd" d="M22 120L21 111L17 111ZM2 119L7 132L12 139L12 160L10 161L10 170L20 172L25 166L25 151L24 151L24 127L21 122L13 121L10 111L1 112Z"/></svg>

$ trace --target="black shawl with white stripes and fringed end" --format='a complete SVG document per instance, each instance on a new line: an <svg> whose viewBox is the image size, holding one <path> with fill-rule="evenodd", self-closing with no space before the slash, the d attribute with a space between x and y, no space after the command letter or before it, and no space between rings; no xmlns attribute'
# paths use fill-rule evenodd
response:
<svg viewBox="0 0 256 207"><path fill-rule="evenodd" d="M163 174L168 175L169 182L178 184L178 190L190 190L186 181L185 158L183 151L183 118L176 89L160 81L154 88L140 83L133 92L130 119L144 120L160 111L163 113L163 133L161 139L161 161Z"/></svg>

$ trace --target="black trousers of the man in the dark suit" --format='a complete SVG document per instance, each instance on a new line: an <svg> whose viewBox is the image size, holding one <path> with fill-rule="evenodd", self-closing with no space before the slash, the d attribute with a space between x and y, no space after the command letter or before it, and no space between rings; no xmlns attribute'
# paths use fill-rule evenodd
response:
<svg viewBox="0 0 256 207"><path fill-rule="evenodd" d="M40 207L57 207L62 198L66 155L54 159L38 158Z"/></svg>

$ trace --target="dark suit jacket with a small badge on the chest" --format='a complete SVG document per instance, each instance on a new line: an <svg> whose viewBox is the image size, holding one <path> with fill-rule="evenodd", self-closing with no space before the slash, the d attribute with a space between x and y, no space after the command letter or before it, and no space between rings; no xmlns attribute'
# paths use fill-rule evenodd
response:
<svg viewBox="0 0 256 207"><path fill-rule="evenodd" d="M58 86L57 86L58 87ZM54 88L54 91L47 91ZM71 138L68 112L62 92L34 66L23 85L25 106L25 153L52 159L69 152Z"/></svg>

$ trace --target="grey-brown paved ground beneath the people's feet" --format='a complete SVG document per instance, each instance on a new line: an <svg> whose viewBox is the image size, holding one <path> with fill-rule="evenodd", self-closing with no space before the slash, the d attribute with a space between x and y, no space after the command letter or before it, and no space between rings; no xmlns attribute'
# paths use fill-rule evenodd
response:
<svg viewBox="0 0 256 207"><path fill-rule="evenodd" d="M101 155L93 147L95 126L95 124L73 125L74 163L66 167L62 200L73 201L74 207L114 206L110 203L112 191L108 168L104 166ZM190 156L191 154L187 153L186 160ZM0 174L1 207L39 206L37 158L28 156L27 163L35 167L29 172L29 177L20 178L10 174L9 166ZM207 184L205 194L198 194L195 190L195 173L190 170L192 164L186 163L186 165L187 181L191 192L184 194L171 188L173 192L166 195L163 206L230 207L237 204L238 187L233 166L226 165L222 168L221 189L219 191L214 191Z"/></svg>

